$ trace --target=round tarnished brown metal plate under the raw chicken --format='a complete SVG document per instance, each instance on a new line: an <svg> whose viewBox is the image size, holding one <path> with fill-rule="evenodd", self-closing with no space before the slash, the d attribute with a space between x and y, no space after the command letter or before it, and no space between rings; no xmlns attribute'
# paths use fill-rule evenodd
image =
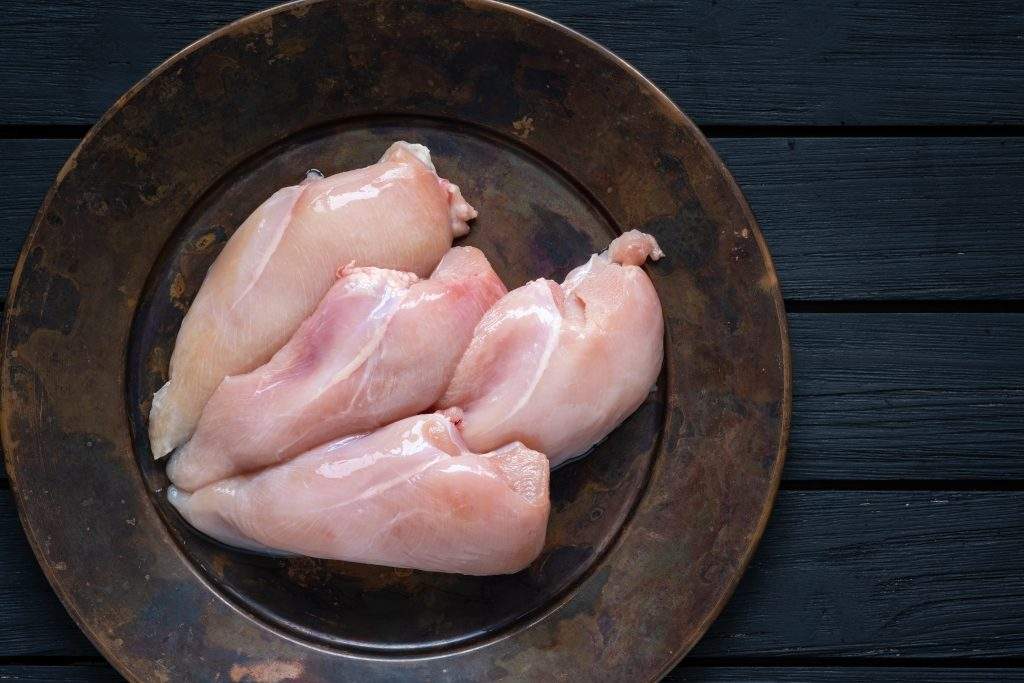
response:
<svg viewBox="0 0 1024 683"><path fill-rule="evenodd" d="M183 311L241 220L306 168L426 143L510 287L655 234L650 399L552 478L544 553L468 578L231 551L164 498L145 415ZM128 678L650 679L760 538L790 414L778 284L739 190L658 90L490 2L300 2L160 67L61 170L5 324L3 441L50 583Z"/></svg>

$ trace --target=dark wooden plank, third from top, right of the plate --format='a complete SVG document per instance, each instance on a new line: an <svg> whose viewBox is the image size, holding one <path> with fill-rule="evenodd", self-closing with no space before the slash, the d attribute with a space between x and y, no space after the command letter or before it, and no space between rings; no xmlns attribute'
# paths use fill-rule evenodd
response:
<svg viewBox="0 0 1024 683"><path fill-rule="evenodd" d="M1024 478L1024 314L788 318L786 480Z"/></svg>

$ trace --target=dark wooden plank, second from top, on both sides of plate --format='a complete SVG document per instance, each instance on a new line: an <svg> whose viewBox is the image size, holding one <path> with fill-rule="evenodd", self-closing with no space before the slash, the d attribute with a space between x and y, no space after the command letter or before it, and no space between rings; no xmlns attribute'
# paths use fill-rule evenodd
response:
<svg viewBox="0 0 1024 683"><path fill-rule="evenodd" d="M718 138L791 301L1024 298L1024 138ZM0 296L74 140L0 140Z"/></svg>

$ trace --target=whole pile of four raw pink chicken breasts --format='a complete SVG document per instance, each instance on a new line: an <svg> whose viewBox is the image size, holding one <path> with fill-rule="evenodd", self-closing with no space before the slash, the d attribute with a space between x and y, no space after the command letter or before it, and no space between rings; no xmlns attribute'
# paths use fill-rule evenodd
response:
<svg viewBox="0 0 1024 683"><path fill-rule="evenodd" d="M452 247L476 211L422 145L285 187L239 227L154 396L154 456L197 529L249 550L467 574L540 554L548 473L656 381L636 230L507 292Z"/></svg>

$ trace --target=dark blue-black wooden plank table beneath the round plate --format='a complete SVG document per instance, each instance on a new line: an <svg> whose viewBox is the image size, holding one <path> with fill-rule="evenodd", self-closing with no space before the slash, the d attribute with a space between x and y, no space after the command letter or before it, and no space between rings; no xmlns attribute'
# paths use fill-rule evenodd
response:
<svg viewBox="0 0 1024 683"><path fill-rule="evenodd" d="M4 6L0 296L90 124L268 4ZM732 601L669 680L1024 681L1024 1L520 4L612 49L700 125L785 294L782 490ZM117 680L38 569L5 478L0 680Z"/></svg>

